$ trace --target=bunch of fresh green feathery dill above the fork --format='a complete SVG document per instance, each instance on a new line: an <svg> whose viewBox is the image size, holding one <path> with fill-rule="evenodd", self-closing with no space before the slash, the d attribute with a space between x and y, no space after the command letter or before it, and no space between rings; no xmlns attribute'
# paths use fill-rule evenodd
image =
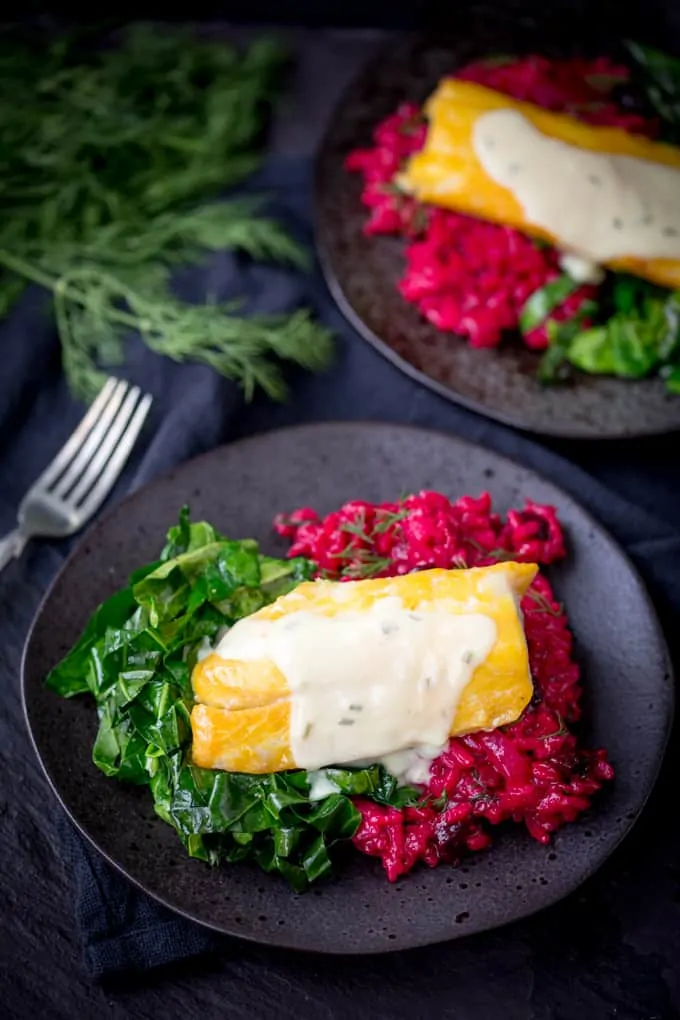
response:
<svg viewBox="0 0 680 1020"><path fill-rule="evenodd" d="M284 55L137 27L114 45L77 35L0 41L0 315L29 284L51 293L62 364L91 398L137 332L282 399L277 360L323 368L330 338L305 311L240 318L238 302L180 301L170 272L240 251L302 268L261 200L217 201L259 162Z"/></svg>

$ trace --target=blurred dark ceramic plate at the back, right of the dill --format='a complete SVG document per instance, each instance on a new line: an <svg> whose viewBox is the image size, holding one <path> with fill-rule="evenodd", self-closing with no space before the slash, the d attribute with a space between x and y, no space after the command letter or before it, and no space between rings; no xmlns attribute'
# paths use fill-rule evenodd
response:
<svg viewBox="0 0 680 1020"><path fill-rule="evenodd" d="M435 329L397 290L404 273L404 242L362 234L367 210L360 202L361 177L345 170L345 157L357 146L370 145L372 129L400 102L421 102L443 74L484 55L571 52L569 17L551 30L516 12L512 20L505 16L494 11L466 20L451 38L406 37L379 54L342 99L316 172L317 246L330 291L361 336L403 371L488 417L573 439L674 431L680 428L680 397L670 395L659 379L579 373L569 386L545 388L535 376L539 356L519 339L476 351ZM581 51L611 52L611 41L599 42L591 27L578 38Z"/></svg>

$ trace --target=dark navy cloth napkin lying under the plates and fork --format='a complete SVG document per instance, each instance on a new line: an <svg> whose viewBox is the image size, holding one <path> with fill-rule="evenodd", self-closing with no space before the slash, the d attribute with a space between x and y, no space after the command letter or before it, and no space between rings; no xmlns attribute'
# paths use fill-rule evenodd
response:
<svg viewBox="0 0 680 1020"><path fill-rule="evenodd" d="M311 244L307 161L271 160L252 187L267 189L272 212ZM637 452L629 444L548 448L458 408L404 376L365 344L335 308L318 269L302 278L220 256L203 273L185 273L180 286L190 297L211 288L224 296L245 292L250 307L257 310L312 305L336 334L335 365L320 376L293 371L293 396L284 406L259 397L245 406L236 388L210 370L175 365L130 342L125 375L151 392L155 401L149 427L114 499L188 457L254 431L320 419L410 422L493 448L568 490L625 546L662 612L680 609L680 530L674 524L680 467L669 444L640 445ZM38 293L29 295L0 328L0 525L8 530L23 492L73 427L82 408L69 398L60 376L56 337ZM579 460L587 470L577 466ZM0 654L7 660L0 663L0 671L8 674L0 678L0 690L10 692L6 702L0 702L0 747L10 745L19 725L16 676L31 617L70 545L35 543L0 576ZM11 839L7 833L3 843ZM86 964L94 976L143 971L226 945L129 885L65 818L53 826L51 843L73 884Z"/></svg>

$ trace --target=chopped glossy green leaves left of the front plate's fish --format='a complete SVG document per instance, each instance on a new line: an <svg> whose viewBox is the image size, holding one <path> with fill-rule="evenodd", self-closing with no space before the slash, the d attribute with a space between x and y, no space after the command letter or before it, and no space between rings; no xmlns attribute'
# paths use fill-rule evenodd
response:
<svg viewBox="0 0 680 1020"><path fill-rule="evenodd" d="M82 638L47 677L63 697L90 692L99 730L93 760L106 775L148 785L156 813L190 856L217 864L255 861L297 890L329 873L334 844L360 815L355 796L404 805L378 765L327 769L334 790L312 800L302 770L247 775L191 760L192 668L206 643L237 619L312 576L304 559L277 560L251 540L233 542L184 509L157 562L93 614Z"/></svg>

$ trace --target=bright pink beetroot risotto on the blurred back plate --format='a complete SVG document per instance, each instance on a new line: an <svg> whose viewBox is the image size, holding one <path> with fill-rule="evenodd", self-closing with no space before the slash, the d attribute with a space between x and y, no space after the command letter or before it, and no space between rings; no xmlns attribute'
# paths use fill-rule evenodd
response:
<svg viewBox="0 0 680 1020"><path fill-rule="evenodd" d="M595 60L548 60L540 56L480 60L457 72L515 99L564 112L598 126L653 136L657 122L619 106L612 92L629 79L627 67ZM399 288L407 301L438 329L467 339L472 347L496 347L506 330L517 328L535 292L561 274L559 254L510 226L423 205L396 183L406 160L425 142L426 122L414 103L402 103L373 132L373 145L356 149L347 168L361 173L361 200L370 210L364 232L405 238L406 271ZM578 287L559 303L556 323L574 319L591 324L587 308L597 288ZM587 302L587 306L585 305ZM545 323L523 329L524 343L548 346Z"/></svg>

